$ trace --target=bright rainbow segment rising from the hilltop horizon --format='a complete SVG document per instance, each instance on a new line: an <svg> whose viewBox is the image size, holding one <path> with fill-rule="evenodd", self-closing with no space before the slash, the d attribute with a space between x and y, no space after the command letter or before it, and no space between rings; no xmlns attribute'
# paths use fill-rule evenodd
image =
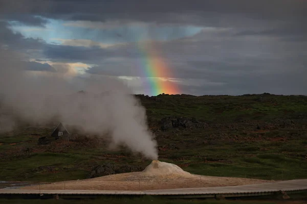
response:
<svg viewBox="0 0 307 204"><path fill-rule="evenodd" d="M142 77L147 80L144 87L145 91L153 96L161 93L178 94L177 85L165 79L165 77L169 77L170 70L162 57L158 55L153 42L139 41L138 48L141 56L140 69L143 73Z"/></svg>

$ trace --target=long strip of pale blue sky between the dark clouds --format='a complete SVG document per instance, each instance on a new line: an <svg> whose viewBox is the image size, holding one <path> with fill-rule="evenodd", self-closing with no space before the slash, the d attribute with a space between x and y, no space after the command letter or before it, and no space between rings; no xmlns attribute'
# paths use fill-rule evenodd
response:
<svg viewBox="0 0 307 204"><path fill-rule="evenodd" d="M119 25L113 28L86 28L65 25L66 21L49 19L46 28L12 24L12 30L25 37L40 38L47 43L58 43L56 39L87 39L107 44L134 42L138 40L175 40L199 33L202 27L173 25Z"/></svg>

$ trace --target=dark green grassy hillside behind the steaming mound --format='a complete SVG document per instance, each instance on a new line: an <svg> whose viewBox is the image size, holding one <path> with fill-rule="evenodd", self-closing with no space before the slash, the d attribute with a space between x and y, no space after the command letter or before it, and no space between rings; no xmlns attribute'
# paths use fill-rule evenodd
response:
<svg viewBox="0 0 307 204"><path fill-rule="evenodd" d="M157 98L141 101L150 127L159 127L159 121L166 116L195 117L209 124L205 129L157 132L158 145L164 148L159 151L159 160L203 175L307 179L306 96L159 95ZM273 125L273 129L258 131L258 124ZM142 167L150 163L122 149L109 150L107 145L38 146L37 139L49 136L53 128L24 125L1 134L0 180L85 179L93 166L103 163ZM30 151L25 152L26 148ZM46 166L56 169L37 171Z"/></svg>

